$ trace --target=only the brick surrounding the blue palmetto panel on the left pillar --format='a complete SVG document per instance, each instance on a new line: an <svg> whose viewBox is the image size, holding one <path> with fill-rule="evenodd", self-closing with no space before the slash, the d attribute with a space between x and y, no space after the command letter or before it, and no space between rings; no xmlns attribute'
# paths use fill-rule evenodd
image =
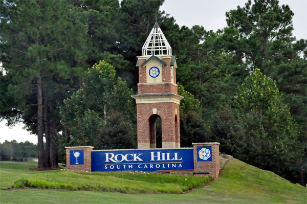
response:
<svg viewBox="0 0 307 204"><path fill-rule="evenodd" d="M70 171L92 171L92 146L83 147L65 147L66 149L66 167ZM83 165L70 165L70 151L83 150Z"/></svg>

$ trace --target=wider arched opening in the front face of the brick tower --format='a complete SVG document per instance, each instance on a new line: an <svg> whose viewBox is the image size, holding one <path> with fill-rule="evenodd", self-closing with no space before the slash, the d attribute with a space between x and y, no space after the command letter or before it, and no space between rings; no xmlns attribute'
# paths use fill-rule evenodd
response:
<svg viewBox="0 0 307 204"><path fill-rule="evenodd" d="M150 148L162 148L162 120L157 114L149 118Z"/></svg>

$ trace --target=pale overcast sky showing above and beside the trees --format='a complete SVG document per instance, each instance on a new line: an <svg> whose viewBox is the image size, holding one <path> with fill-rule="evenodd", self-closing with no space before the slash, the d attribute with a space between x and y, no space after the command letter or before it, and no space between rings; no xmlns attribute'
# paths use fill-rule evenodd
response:
<svg viewBox="0 0 307 204"><path fill-rule="evenodd" d="M225 12L243 7L243 0L165 0L160 10L164 10L176 19L179 26L203 26L206 30L216 31L227 26ZM294 12L293 35L296 39L307 38L307 0L280 0L280 5L288 4ZM167 37L167 36L166 36ZM171 45L170 45L171 46ZM23 125L10 129L6 121L0 122L0 142L16 140L37 143L36 135L23 130Z"/></svg>

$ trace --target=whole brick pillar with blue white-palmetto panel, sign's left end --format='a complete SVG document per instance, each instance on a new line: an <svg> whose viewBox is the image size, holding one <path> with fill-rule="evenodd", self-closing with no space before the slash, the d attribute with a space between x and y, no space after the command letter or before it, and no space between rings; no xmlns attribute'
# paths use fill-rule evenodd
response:
<svg viewBox="0 0 307 204"><path fill-rule="evenodd" d="M66 149L66 167L71 171L92 171L92 146L80 146L80 147L65 147ZM81 151L80 151L81 150ZM73 152L79 152L78 160L79 164L76 164L76 157L70 158ZM83 151L83 152L82 152ZM83 153L83 157L82 156ZM83 163L83 164L82 164Z"/></svg>

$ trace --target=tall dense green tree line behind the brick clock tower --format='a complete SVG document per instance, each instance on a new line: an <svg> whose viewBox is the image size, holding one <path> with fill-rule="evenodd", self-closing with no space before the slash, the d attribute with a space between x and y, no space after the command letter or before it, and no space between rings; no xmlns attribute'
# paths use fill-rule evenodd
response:
<svg viewBox="0 0 307 204"><path fill-rule="evenodd" d="M179 27L163 2L1 1L1 116L37 134L38 168L57 167L68 145L136 147L136 56L157 15L185 97L181 145L221 142L306 184L307 43L289 6L247 1L213 32Z"/></svg>

